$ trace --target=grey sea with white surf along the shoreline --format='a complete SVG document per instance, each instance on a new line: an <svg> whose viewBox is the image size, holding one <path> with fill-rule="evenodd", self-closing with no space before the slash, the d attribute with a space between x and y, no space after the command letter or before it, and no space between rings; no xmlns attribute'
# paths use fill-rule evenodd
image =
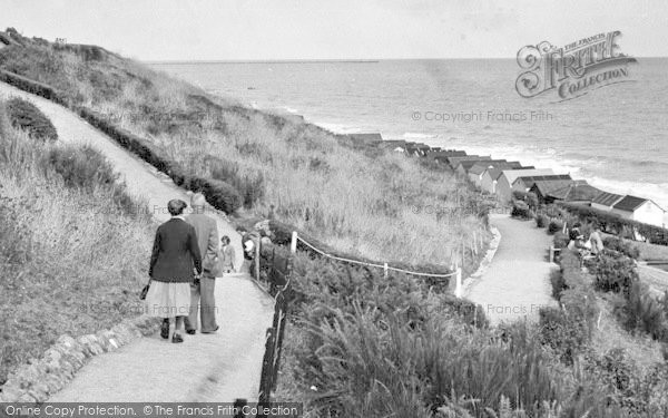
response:
<svg viewBox="0 0 668 418"><path fill-rule="evenodd" d="M668 210L668 58L637 58L626 82L569 100L556 90L520 96L514 59L150 66L332 132L381 133L385 139L520 161Z"/></svg>

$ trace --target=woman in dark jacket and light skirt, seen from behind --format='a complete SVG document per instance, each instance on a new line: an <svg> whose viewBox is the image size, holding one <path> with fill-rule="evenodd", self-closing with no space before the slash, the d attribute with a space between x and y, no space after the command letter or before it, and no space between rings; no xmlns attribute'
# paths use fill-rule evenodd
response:
<svg viewBox="0 0 668 418"><path fill-rule="evenodd" d="M187 204L171 200L167 210L171 218L156 232L150 268L151 279L146 302L150 314L163 318L160 336L169 338L169 320L175 318L171 342L183 342L184 318L190 311L190 283L202 274L202 255L193 225L183 216Z"/></svg>

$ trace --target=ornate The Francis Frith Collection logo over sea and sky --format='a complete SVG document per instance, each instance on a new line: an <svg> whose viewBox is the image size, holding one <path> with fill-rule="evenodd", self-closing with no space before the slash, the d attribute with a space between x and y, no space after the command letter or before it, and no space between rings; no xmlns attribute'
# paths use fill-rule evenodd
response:
<svg viewBox="0 0 668 418"><path fill-rule="evenodd" d="M562 48L548 41L528 45L518 51L518 64L523 72L515 80L515 89L527 98L554 90L562 101L600 87L630 81L629 64L637 61L621 52L620 37L621 32L616 30Z"/></svg>

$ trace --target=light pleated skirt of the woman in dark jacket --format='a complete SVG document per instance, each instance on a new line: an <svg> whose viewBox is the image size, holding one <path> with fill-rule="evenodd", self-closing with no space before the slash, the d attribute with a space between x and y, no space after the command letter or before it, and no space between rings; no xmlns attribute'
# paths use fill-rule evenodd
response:
<svg viewBox="0 0 668 418"><path fill-rule="evenodd" d="M190 312L190 283L153 280L146 294L146 313L158 318L187 317Z"/></svg>

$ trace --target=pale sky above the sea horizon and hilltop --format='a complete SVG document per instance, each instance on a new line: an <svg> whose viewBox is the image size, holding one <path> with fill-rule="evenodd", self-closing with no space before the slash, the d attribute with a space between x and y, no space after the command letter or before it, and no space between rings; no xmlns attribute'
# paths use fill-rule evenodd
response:
<svg viewBox="0 0 668 418"><path fill-rule="evenodd" d="M514 58L620 30L668 56L665 0L0 0L0 28L144 61Z"/></svg>

